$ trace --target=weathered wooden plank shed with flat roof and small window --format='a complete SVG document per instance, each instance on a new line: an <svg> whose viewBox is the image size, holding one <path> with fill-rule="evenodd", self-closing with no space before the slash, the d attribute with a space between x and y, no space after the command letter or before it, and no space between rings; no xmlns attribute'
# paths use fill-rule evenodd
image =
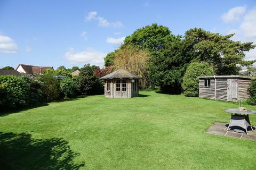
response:
<svg viewBox="0 0 256 170"><path fill-rule="evenodd" d="M249 98L251 78L242 75L214 75L199 78L199 97L238 101Z"/></svg>

